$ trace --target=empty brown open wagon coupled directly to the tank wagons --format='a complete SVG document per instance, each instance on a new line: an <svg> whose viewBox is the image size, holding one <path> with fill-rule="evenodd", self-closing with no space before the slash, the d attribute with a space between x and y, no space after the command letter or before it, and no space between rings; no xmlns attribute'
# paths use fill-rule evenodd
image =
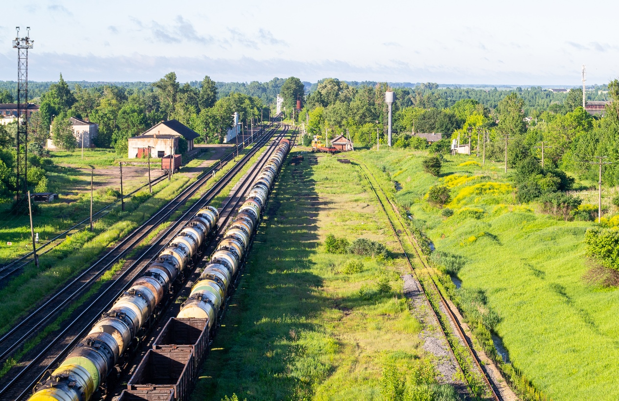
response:
<svg viewBox="0 0 619 401"><path fill-rule="evenodd" d="M194 371L202 366L209 345L209 319L171 317L155 338L154 350L189 348L194 355Z"/></svg>

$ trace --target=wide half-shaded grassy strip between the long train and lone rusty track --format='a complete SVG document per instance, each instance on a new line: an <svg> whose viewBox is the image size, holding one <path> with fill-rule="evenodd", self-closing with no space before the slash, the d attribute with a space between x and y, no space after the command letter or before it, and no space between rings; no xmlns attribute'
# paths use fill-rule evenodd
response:
<svg viewBox="0 0 619 401"><path fill-rule="evenodd" d="M327 254L322 244L363 237L397 252L386 218L354 166L313 160L282 170L194 400L382 399L397 371L428 393L402 256Z"/></svg>

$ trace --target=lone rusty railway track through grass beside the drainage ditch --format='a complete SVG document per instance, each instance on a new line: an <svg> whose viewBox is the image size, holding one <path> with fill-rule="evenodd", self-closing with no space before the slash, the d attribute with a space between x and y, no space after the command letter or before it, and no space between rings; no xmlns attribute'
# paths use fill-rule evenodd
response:
<svg viewBox="0 0 619 401"><path fill-rule="evenodd" d="M351 160L353 160L355 163L357 163L357 165L360 168L361 174L363 174L365 176L366 181L368 181L368 183L370 184L370 188L372 189L372 191L374 192L374 195L376 196L376 199L378 199L378 203L381 206L381 209L383 209L383 212L385 213L385 215L387 217L387 222L389 223L389 226L391 227L391 230L392 230L394 236L396 237L398 243L400 244L400 248L402 249L402 252L404 252L404 256L405 256L405 259L407 261L407 264L409 265L409 268L410 268L413 276L415 277L415 279L420 283L420 288L422 289L423 296L426 298L426 300L430 304L430 306L431 306L430 310L432 311L433 316L435 316L436 321L439 323L438 326L440 327L441 333L443 334L443 337L445 338L447 344L449 345L449 351L450 351L451 355L454 357L454 360L456 361L457 368L460 371L460 373L462 373L462 376L465 377L464 376L464 371L462 369L462 366L461 366L460 362L457 360L456 354L454 353L454 350L452 349L452 346L449 343L448 334L446 333L446 331L445 331L445 329L443 327L443 324L441 323L441 319L439 319L439 313L440 312L436 311L435 307L431 303L430 295L429 295L430 291L428 291L428 289L425 286L425 282L423 282L420 279L420 277L417 274L417 271L415 270L415 267L413 267L412 261L410 260L410 256L409 256L408 252L406 251L406 249L404 248L404 244L402 243L402 239L400 239L400 233L398 233L398 231L400 231L400 230L396 230L396 227L394 226L394 222L393 222L391 216L389 215L389 213L387 212L387 209L386 209L386 207L384 205L383 200L378 195L378 192L376 192L376 188L374 187L374 184L373 184L372 180L368 177L368 175L370 175L372 177L372 179L374 180L374 182L376 182L376 186L379 188L379 191L381 191L381 193L383 194L384 199L386 199L386 201L389 203L389 206L391 207L392 212L394 212L396 214L396 216L399 215L399 211L397 210L397 207L394 204L392 204L391 200L389 200L389 197L387 197L387 194L383 191L383 188L378 184L378 181L376 180L374 175L371 173L371 171L365 165L363 165L363 163L360 163L357 160L354 160L352 158L351 158ZM417 241L416 241L415 237L411 233L409 233L408 228L404 225L404 223L402 223L402 221L399 218L396 218L395 220L397 220L399 225L402 227L402 233L409 240L409 243L411 244L411 246L413 248L413 251L415 252L415 256L417 256L417 259L419 259L419 261L422 263L423 267L428 272L428 276L430 278L430 280L429 280L429 282L430 282L430 290L432 291L433 294L438 296L440 306L442 306L444 308L444 311L446 311L448 319L452 323L452 327L454 327L456 329L457 336L459 337L461 342L464 344L465 348L467 348L467 351L468 351L469 355L472 357L472 360L475 363L475 368L477 369L478 374L480 374L480 376L483 378L483 382L485 384L485 387L487 387L488 392L490 393L491 399L496 400L496 401L503 401L503 398L500 397L498 390L495 389L495 385L493 384L491 379L488 377L488 373L482 368L482 364L480 363L480 360L479 360L479 358L477 356L477 353L471 347L471 345L469 343L469 339L464 334L464 330L462 329L459 320L456 318L456 315L452 311L451 305L444 298L443 293L441 293L441 291L436 286L435 278L430 273L431 272L431 268L428 265L427 261L422 257L422 254L421 254L421 252L419 250L419 246L417 244Z"/></svg>

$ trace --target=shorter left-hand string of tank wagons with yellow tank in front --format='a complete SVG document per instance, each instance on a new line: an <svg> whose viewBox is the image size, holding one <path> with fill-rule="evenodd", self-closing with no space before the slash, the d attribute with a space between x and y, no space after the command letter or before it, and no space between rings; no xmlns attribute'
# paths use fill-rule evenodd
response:
<svg viewBox="0 0 619 401"><path fill-rule="evenodd" d="M219 212L207 206L194 215L154 262L95 323L30 400L87 401L106 377L135 349L173 284L201 256L217 232Z"/></svg>

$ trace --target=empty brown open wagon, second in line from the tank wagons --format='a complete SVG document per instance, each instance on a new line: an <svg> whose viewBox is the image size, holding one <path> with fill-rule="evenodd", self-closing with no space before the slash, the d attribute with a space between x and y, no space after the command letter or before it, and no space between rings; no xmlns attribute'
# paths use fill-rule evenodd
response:
<svg viewBox="0 0 619 401"><path fill-rule="evenodd" d="M173 390L174 401L187 401L195 379L193 350L188 347L149 350L137 365L128 390Z"/></svg>

